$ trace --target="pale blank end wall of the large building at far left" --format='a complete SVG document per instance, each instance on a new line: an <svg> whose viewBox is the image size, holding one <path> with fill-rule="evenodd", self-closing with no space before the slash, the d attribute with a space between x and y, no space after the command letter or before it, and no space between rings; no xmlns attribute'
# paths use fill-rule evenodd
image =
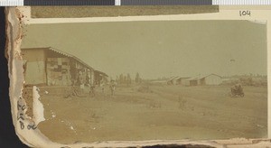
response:
<svg viewBox="0 0 271 148"><path fill-rule="evenodd" d="M25 84L46 84L45 52L43 49L22 49Z"/></svg>

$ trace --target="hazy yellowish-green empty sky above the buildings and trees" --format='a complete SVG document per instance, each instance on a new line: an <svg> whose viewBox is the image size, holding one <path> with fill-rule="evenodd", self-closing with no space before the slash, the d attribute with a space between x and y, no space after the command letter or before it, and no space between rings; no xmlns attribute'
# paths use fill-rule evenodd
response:
<svg viewBox="0 0 271 148"><path fill-rule="evenodd" d="M115 78L265 74L266 24L153 21L30 24L22 48L53 47ZM235 61L233 61L235 60Z"/></svg>

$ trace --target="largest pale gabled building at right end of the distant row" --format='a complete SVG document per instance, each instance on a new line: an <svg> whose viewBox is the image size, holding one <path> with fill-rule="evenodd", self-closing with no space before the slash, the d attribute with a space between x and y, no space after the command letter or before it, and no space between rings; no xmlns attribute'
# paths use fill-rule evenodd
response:
<svg viewBox="0 0 271 148"><path fill-rule="evenodd" d="M216 74L210 74L201 78L185 79L185 86L205 86L205 85L220 85L222 77Z"/></svg>

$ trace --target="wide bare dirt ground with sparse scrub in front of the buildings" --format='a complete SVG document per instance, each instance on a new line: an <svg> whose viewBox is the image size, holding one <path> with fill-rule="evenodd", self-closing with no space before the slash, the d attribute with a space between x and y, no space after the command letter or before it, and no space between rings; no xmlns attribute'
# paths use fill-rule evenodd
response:
<svg viewBox="0 0 271 148"><path fill-rule="evenodd" d="M146 90L146 91L138 91ZM110 96L42 97L46 121L38 128L54 142L228 139L267 136L267 88L118 87Z"/></svg>

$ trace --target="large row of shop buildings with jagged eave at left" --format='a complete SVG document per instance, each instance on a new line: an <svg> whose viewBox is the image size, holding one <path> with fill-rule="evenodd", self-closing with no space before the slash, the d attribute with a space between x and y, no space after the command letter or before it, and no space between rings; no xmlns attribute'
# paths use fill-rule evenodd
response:
<svg viewBox="0 0 271 148"><path fill-rule="evenodd" d="M79 58L51 47L22 49L26 85L99 85L107 74Z"/></svg>

